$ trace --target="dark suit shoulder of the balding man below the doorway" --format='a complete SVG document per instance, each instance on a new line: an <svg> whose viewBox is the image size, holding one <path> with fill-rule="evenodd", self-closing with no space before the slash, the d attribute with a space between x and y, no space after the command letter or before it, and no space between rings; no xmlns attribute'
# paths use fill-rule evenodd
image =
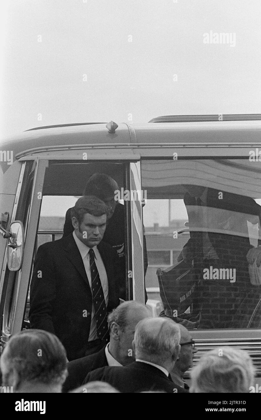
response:
<svg viewBox="0 0 261 420"><path fill-rule="evenodd" d="M78 388L89 372L103 366L108 366L105 346L98 353L90 354L90 356L81 357L80 359L67 363L68 376L62 386L62 392L68 392Z"/></svg>

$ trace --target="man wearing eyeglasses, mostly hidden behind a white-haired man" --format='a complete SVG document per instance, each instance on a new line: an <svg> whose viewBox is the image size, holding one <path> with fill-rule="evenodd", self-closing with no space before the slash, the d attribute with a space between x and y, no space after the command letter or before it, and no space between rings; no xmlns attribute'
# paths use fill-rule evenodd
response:
<svg viewBox="0 0 261 420"><path fill-rule="evenodd" d="M182 388L189 390L189 386L183 381L183 376L186 370L193 367L193 356L198 350L195 347L195 342L192 340L190 332L183 325L176 325L178 325L181 333L181 349L174 368L171 371L171 378L173 382L177 383Z"/></svg>

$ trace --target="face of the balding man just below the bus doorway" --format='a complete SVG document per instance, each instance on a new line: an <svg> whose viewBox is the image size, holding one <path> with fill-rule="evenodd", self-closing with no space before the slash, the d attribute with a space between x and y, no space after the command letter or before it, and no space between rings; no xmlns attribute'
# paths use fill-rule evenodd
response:
<svg viewBox="0 0 261 420"><path fill-rule="evenodd" d="M149 311L146 311L145 309L129 310L129 313L127 315L127 326L125 327L124 331L120 331L119 345L121 347L121 354L124 357L126 356L126 364L135 361L135 354L132 347L135 327L138 322L145 318L151 318L151 314ZM129 352L129 350L132 350L132 352Z"/></svg>

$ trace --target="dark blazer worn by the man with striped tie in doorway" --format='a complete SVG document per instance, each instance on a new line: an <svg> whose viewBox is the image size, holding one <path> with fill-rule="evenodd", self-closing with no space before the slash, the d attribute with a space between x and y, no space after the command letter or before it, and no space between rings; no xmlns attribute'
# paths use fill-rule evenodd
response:
<svg viewBox="0 0 261 420"><path fill-rule="evenodd" d="M107 312L119 304L115 254L109 244L97 246L109 284ZM39 247L30 291L31 328L57 335L68 360L85 356L90 333L92 294L83 260L70 234Z"/></svg>

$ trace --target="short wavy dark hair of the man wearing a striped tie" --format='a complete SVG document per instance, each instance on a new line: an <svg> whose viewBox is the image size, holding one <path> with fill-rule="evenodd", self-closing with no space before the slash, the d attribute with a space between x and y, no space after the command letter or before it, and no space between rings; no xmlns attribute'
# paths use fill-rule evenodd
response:
<svg viewBox="0 0 261 420"><path fill-rule="evenodd" d="M109 207L94 195L84 195L80 197L75 206L71 209L71 219L76 217L78 223L82 223L84 215L89 213L93 216L102 216L106 214L108 217Z"/></svg>

